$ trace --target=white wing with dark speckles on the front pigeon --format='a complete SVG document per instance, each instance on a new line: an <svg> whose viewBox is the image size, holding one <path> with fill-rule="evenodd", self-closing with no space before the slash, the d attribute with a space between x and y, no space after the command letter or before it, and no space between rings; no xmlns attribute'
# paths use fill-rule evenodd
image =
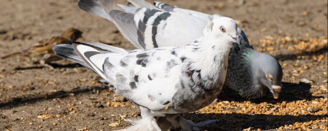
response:
<svg viewBox="0 0 328 131"><path fill-rule="evenodd" d="M75 43L73 48L123 97L150 110L162 110L172 104L175 85L181 75L181 62L171 54L173 47L136 50L126 54L101 53Z"/></svg>

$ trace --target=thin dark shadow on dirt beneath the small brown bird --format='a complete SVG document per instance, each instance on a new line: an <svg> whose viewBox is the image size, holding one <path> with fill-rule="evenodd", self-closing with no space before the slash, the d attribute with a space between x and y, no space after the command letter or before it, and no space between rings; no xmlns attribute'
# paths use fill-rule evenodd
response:
<svg viewBox="0 0 328 131"><path fill-rule="evenodd" d="M80 65L78 63L70 63L70 64L49 63L49 65L51 67L53 67L54 69L57 69L57 68L78 68L78 67L83 67L82 65ZM44 65L36 65L36 66L33 66L33 67L17 67L14 70L31 70L31 69L43 69L43 68L47 68L47 66L44 66Z"/></svg>

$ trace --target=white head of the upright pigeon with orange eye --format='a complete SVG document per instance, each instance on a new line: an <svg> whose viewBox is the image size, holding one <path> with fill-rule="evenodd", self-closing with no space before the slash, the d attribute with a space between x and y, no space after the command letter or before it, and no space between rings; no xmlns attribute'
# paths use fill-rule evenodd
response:
<svg viewBox="0 0 328 131"><path fill-rule="evenodd" d="M208 25L204 30L204 35L211 35L216 38L226 39L239 44L237 35L237 23L229 17L220 15L209 16Z"/></svg>

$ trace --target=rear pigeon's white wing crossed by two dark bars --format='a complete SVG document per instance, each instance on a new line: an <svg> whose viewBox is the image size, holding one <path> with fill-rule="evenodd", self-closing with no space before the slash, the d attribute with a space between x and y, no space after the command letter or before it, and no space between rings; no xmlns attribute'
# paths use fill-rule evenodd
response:
<svg viewBox="0 0 328 131"><path fill-rule="evenodd" d="M207 25L206 20L186 13L147 8L140 8L135 14L112 10L110 16L122 35L138 49L185 45L202 36Z"/></svg>

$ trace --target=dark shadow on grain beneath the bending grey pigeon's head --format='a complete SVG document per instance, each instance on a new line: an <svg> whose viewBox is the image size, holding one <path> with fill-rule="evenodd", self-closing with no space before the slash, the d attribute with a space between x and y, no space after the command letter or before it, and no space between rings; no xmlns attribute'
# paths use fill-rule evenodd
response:
<svg viewBox="0 0 328 131"><path fill-rule="evenodd" d="M310 93L311 85L308 83L290 83L290 82L282 82L283 88L279 94L278 99L274 99L271 93L267 94L263 98L252 99L254 103L281 103L282 101L292 102L297 100L312 100L316 98L323 98L323 97L315 97L312 96ZM231 90L230 88L223 88L221 94L218 97L219 100L226 100L226 101L238 101L242 102L248 100L247 98L243 98L238 95L237 92Z"/></svg>

